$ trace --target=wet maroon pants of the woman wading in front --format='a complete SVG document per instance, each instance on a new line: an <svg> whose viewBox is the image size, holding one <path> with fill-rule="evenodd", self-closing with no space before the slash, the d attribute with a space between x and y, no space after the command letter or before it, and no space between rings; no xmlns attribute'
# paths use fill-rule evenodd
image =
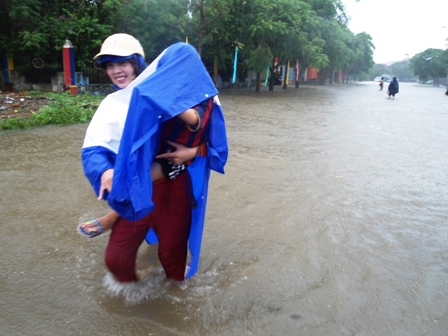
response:
<svg viewBox="0 0 448 336"><path fill-rule="evenodd" d="M184 280L192 205L188 172L174 180L154 183L152 199L155 207L149 215L138 221L120 217L112 228L105 262L120 282L137 281L137 251L149 228L155 231L159 239L158 255L166 277Z"/></svg>

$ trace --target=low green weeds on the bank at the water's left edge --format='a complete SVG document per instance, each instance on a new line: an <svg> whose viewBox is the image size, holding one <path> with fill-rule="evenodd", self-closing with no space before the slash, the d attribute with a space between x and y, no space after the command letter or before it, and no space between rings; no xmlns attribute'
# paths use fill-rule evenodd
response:
<svg viewBox="0 0 448 336"><path fill-rule="evenodd" d="M62 94L48 93L47 97L51 99L49 104L40 108L36 113L27 117L18 116L0 119L0 130L85 123L92 119L104 98L90 95L72 96L69 92Z"/></svg>

